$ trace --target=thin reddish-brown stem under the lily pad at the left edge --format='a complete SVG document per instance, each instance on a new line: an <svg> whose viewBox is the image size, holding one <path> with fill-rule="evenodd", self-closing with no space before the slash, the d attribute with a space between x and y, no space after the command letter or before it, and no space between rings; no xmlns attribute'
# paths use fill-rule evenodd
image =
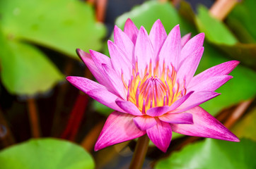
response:
<svg viewBox="0 0 256 169"><path fill-rule="evenodd" d="M32 136L34 138L38 138L40 137L40 125L39 125L35 99L33 98L28 99L28 113L30 117L30 127L31 127Z"/></svg>

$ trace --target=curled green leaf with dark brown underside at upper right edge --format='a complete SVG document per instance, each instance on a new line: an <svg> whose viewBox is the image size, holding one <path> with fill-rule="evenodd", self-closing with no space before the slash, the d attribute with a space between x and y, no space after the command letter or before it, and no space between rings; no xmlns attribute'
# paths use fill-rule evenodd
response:
<svg viewBox="0 0 256 169"><path fill-rule="evenodd" d="M196 18L197 28L204 32L206 39L219 47L231 58L235 58L256 70L256 44L241 44L220 20L212 18L204 6L199 6ZM240 35L250 39L245 35Z"/></svg>

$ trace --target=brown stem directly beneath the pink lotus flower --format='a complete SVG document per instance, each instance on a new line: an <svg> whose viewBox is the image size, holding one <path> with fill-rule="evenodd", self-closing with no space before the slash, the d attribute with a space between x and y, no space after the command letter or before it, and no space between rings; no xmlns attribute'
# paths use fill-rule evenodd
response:
<svg viewBox="0 0 256 169"><path fill-rule="evenodd" d="M148 151L148 146L149 146L148 135L145 134L144 136L139 137L129 169L142 168L142 165L144 163L145 156L146 156L146 151Z"/></svg>

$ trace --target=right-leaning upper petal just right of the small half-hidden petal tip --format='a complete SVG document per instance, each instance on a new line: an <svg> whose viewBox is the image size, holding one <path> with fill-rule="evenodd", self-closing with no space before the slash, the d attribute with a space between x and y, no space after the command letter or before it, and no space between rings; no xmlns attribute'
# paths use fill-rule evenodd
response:
<svg viewBox="0 0 256 169"><path fill-rule="evenodd" d="M192 39L190 39L185 46L183 46L180 54L180 61L184 61L185 58L190 57L190 55L198 50L201 49L204 44L204 33L200 33Z"/></svg>

